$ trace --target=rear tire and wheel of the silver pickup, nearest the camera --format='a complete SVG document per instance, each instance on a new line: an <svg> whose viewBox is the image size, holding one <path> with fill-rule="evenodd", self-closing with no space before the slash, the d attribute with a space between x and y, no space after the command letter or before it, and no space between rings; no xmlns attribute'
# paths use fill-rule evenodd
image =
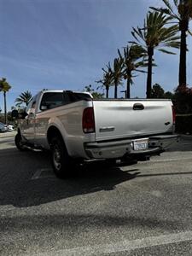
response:
<svg viewBox="0 0 192 256"><path fill-rule="evenodd" d="M61 137L51 139L52 166L55 176L59 178L69 177L73 171L74 164L67 154L67 148Z"/></svg>

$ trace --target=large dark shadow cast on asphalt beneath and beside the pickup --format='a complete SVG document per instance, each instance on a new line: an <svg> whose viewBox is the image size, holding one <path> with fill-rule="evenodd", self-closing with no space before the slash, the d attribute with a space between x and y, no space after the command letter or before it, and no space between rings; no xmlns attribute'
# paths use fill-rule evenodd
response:
<svg viewBox="0 0 192 256"><path fill-rule="evenodd" d="M32 207L96 191L113 190L119 183L140 173L123 172L118 166L97 162L79 166L70 178L60 180L52 174L49 159L46 152L19 152L16 148L0 150L0 205ZM38 170L48 172L32 179Z"/></svg>

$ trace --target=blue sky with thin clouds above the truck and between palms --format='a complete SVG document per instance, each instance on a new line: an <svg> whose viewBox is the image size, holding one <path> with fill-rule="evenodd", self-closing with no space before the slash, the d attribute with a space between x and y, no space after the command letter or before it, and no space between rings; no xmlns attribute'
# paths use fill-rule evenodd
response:
<svg viewBox="0 0 192 256"><path fill-rule="evenodd" d="M35 95L43 89L82 91L88 84L96 89L102 67L133 39L132 26L143 26L149 6L162 6L162 1L0 0L0 78L12 86L8 108L26 90ZM192 37L188 45L191 48ZM153 84L171 91L177 87L178 58L178 54L154 52L158 67L153 70ZM192 85L190 60L189 52L187 73ZM146 79L143 73L134 79L131 97L145 97ZM121 90L125 86L119 86L119 96Z"/></svg>

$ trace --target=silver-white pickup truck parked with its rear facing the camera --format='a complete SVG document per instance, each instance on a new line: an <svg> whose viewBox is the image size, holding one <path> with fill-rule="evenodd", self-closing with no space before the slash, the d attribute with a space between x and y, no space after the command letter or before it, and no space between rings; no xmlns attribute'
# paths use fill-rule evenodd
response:
<svg viewBox="0 0 192 256"><path fill-rule="evenodd" d="M13 116L20 118L17 148L50 149L57 177L77 161L148 160L177 142L170 100L94 100L86 92L42 90Z"/></svg>

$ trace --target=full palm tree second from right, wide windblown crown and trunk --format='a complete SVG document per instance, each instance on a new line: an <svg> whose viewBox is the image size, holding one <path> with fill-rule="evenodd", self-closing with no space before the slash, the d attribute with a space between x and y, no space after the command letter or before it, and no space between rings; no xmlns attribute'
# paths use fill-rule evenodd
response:
<svg viewBox="0 0 192 256"><path fill-rule="evenodd" d="M137 26L136 29L133 27L133 32L131 32L132 36L137 40L137 42L131 43L142 45L148 53L147 98L151 97L154 49L158 49L166 54L174 54L167 49L161 49L161 47L179 48L180 46L177 41L179 39L177 36L178 26L166 26L170 20L172 20L172 17L161 12L148 12L143 28Z"/></svg>

